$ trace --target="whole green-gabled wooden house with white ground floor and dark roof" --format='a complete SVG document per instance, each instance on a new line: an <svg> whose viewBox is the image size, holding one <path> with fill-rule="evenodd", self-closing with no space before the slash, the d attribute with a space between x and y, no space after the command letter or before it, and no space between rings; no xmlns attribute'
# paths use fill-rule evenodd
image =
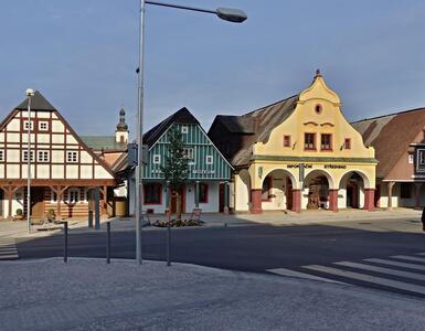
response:
<svg viewBox="0 0 425 331"><path fill-rule="evenodd" d="M163 213L168 202L176 211L176 200L170 194L161 171L169 152L169 135L172 128L182 134L184 154L189 163L189 179L181 189L182 211L194 207L203 212L229 211L229 181L232 166L210 140L198 119L181 108L144 135L148 146L148 161L144 168L144 211ZM129 212L135 211L135 171L128 178Z"/></svg>

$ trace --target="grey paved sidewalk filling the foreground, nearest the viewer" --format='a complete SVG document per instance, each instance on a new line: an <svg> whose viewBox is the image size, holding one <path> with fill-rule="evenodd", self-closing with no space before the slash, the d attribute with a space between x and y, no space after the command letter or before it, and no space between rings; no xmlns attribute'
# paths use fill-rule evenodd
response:
<svg viewBox="0 0 425 331"><path fill-rule="evenodd" d="M0 261L1 330L423 330L423 300L193 265Z"/></svg>

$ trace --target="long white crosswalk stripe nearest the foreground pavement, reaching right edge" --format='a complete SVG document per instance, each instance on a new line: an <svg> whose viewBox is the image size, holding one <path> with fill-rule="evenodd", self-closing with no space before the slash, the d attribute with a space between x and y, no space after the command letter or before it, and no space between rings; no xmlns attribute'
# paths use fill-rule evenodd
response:
<svg viewBox="0 0 425 331"><path fill-rule="evenodd" d="M382 277L369 276L369 275L363 275L359 273L352 273L352 271L347 271L347 270L326 267L326 266L318 266L318 265L304 266L302 268L326 273L326 274L331 274L336 276L341 276L346 278L357 279L365 282L378 284L385 287L396 288L396 289L401 289L410 292L425 295L425 287L419 285L386 279Z"/></svg>

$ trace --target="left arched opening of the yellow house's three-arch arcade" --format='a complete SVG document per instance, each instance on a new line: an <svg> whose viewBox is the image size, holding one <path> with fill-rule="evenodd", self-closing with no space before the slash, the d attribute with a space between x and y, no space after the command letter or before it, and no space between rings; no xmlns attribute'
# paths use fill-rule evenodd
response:
<svg viewBox="0 0 425 331"><path fill-rule="evenodd" d="M276 169L263 179L262 210L283 211L293 210L294 177L288 171Z"/></svg>

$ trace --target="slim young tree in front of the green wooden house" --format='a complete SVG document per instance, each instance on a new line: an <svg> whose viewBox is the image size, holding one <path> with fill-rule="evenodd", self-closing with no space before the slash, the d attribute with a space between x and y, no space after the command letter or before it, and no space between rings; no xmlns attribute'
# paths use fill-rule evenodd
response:
<svg viewBox="0 0 425 331"><path fill-rule="evenodd" d="M184 156L183 139L177 127L169 132L169 153L166 157L164 167L161 167L169 190L174 192L177 220L181 220L181 195L180 190L189 177L188 159ZM170 194L171 197L171 194ZM171 203L171 199L170 199ZM170 205L168 206L171 211Z"/></svg>

